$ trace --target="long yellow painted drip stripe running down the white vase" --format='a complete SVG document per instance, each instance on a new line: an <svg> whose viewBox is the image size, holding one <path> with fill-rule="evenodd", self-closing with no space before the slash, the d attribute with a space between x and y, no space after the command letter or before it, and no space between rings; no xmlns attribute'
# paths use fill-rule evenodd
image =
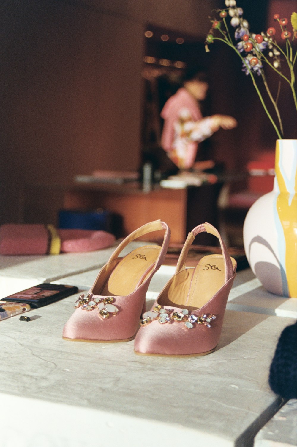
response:
<svg viewBox="0 0 297 447"><path fill-rule="evenodd" d="M297 297L297 170L293 190L288 191L280 170L280 143L276 141L275 173L280 188L276 199L277 213L285 236L285 270L289 296ZM291 194L290 194L291 193ZM291 196L291 201L290 201Z"/></svg>

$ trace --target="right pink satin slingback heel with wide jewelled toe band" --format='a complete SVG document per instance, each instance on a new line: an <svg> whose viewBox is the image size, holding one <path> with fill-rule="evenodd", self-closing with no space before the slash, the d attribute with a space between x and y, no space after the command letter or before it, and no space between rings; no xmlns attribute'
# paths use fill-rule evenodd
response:
<svg viewBox="0 0 297 447"><path fill-rule="evenodd" d="M186 267L186 257L198 233L218 237L222 254L204 256L196 267ZM205 355L214 351L222 330L236 270L219 232L210 223L188 235L168 281L150 311L144 312L136 334L136 354L163 356Z"/></svg>

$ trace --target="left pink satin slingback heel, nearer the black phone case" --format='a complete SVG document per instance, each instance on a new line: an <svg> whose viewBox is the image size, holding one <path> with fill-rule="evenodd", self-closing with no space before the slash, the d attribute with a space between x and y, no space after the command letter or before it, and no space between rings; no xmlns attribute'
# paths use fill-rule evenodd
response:
<svg viewBox="0 0 297 447"><path fill-rule="evenodd" d="M159 230L165 232L162 246L143 245L119 257L129 242ZM165 258L169 239L170 230L161 220L147 223L126 237L99 271L91 289L76 301L63 338L84 342L131 340L145 309L149 282Z"/></svg>

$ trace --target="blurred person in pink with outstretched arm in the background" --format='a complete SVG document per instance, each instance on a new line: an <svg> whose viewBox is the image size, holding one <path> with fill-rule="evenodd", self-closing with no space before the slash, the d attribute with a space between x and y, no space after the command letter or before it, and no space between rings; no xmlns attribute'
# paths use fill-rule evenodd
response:
<svg viewBox="0 0 297 447"><path fill-rule="evenodd" d="M189 70L183 86L166 101L161 111L164 119L161 146L179 169L193 167L199 142L220 128L237 126L235 118L228 115L202 117L199 101L206 98L208 87L201 69Z"/></svg>

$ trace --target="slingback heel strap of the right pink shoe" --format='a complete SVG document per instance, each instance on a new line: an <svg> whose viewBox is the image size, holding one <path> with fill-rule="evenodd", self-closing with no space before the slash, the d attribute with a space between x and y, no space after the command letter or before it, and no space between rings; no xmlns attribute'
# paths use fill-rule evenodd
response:
<svg viewBox="0 0 297 447"><path fill-rule="evenodd" d="M186 242L183 246L183 249L181 250L180 257L177 261L176 273L178 273L180 270L182 270L186 267L186 257L188 255L190 245L192 245L192 243L195 239L195 236L197 236L198 233L202 233L202 232L207 232L207 233L213 234L220 241L220 245L221 245L221 249L222 249L222 253L223 253L223 257L224 257L224 264L225 264L225 283L227 283L227 281L230 278L232 278L232 276L234 275L230 255L228 253L227 247L224 244L218 230L216 228L214 228L213 225L211 225L210 223L207 223L207 222L202 223L201 225L198 225L198 227L195 227L188 234L188 237L187 237Z"/></svg>

